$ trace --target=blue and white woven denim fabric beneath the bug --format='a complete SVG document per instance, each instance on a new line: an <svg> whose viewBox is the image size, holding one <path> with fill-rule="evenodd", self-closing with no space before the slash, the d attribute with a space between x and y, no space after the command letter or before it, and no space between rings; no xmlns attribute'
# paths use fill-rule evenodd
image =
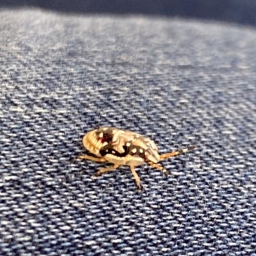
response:
<svg viewBox="0 0 256 256"><path fill-rule="evenodd" d="M0 13L0 255L256 255L256 31L147 17ZM163 161L95 177L99 126Z"/></svg>

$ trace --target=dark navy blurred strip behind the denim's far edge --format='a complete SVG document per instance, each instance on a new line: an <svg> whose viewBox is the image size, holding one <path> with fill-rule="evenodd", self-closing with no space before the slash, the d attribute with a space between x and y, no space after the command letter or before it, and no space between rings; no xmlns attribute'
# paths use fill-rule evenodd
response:
<svg viewBox="0 0 256 256"><path fill-rule="evenodd" d="M67 13L178 16L256 24L254 0L1 0L0 6L29 6Z"/></svg>

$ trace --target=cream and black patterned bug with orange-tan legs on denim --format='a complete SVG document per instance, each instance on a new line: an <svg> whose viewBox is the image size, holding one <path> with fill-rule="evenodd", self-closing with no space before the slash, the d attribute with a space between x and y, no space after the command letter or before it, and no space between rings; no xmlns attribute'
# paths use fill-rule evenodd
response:
<svg viewBox="0 0 256 256"><path fill-rule="evenodd" d="M84 147L94 156L82 155L79 159L87 159L96 162L113 163L112 166L100 169L96 176L105 172L116 170L119 166L130 166L136 186L141 189L140 177L135 171L136 166L150 164L152 167L161 170L167 177L168 172L159 161L168 157L178 156L193 150L196 145L177 150L166 154L158 154L156 143L150 138L136 132L121 130L114 127L100 127L89 131L83 137Z"/></svg>

